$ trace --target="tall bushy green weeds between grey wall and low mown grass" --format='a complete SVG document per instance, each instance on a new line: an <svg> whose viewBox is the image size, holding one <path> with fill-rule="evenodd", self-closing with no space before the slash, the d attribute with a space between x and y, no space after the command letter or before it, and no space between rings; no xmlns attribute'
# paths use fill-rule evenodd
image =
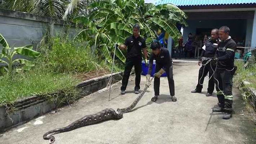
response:
<svg viewBox="0 0 256 144"><path fill-rule="evenodd" d="M86 43L69 40L68 38L53 38L51 47L44 48L44 56L39 63L44 63L56 73L86 73L101 68L108 68L104 60L93 56Z"/></svg>

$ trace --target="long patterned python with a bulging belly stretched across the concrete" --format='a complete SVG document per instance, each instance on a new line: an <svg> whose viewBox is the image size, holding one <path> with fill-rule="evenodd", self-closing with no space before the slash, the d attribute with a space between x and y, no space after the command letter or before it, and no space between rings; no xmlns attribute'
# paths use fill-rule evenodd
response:
<svg viewBox="0 0 256 144"><path fill-rule="evenodd" d="M80 118L79 120L76 120L75 122L73 122L72 124L63 127L63 128L57 128L55 130L51 130L49 132L46 132L43 136L44 140L49 140L49 143L52 144L55 141L54 134L59 134L62 132L68 132L71 130L74 130L76 128L80 128L83 126L88 126L88 125L92 125L92 124L97 124L99 122L102 121L106 121L106 120L119 120L121 118L123 118L123 113L126 112L130 112L140 101L140 99L142 98L142 96L145 94L146 90L148 89L148 87L150 86L151 82L152 82L153 78L150 80L150 82L145 86L144 90L142 91L142 93L136 98L136 100L134 100L134 102L128 106L127 108L118 108L116 111L112 108L106 108L104 110L101 110L100 112L96 113L96 114L92 114L92 115L86 115L82 118Z"/></svg>

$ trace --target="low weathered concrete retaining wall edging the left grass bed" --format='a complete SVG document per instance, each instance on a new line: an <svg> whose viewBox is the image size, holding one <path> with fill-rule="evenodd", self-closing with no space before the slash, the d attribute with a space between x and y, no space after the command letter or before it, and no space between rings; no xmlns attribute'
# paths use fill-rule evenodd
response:
<svg viewBox="0 0 256 144"><path fill-rule="evenodd" d="M78 88L82 89L82 96L92 94L108 85L111 74L86 80L77 85ZM112 83L116 83L122 79L122 72L114 73L112 76ZM51 95L56 95L53 93ZM44 95L31 96L22 100L17 100L10 107L0 106L0 132L4 132L26 123L29 120L46 114L51 110L57 108L56 102L49 101Z"/></svg>

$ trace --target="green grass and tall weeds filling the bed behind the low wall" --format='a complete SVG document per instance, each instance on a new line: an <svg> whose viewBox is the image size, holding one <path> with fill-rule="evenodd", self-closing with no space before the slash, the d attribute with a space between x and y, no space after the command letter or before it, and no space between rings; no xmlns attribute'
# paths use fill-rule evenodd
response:
<svg viewBox="0 0 256 144"><path fill-rule="evenodd" d="M110 72L112 66L102 56L93 55L85 43L68 38L52 38L49 43L42 43L39 51L42 54L34 60L35 66L31 70L22 70L20 66L10 76L0 74L0 105L57 91L67 93L62 100L74 100L78 94L74 86L80 81L74 75L101 69ZM117 62L115 72L120 71L122 65ZM3 73L3 68L0 73Z"/></svg>

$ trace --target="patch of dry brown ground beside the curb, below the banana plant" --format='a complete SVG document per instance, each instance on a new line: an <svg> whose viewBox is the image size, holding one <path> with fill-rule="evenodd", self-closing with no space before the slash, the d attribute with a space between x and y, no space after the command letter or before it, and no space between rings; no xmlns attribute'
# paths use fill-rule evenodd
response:
<svg viewBox="0 0 256 144"><path fill-rule="evenodd" d="M81 81L85 81L85 80L90 80L92 78L97 78L100 76L105 76L107 74L110 74L111 72L109 72L106 69L102 69L102 70L96 70L96 71L92 71L92 72L87 72L85 74L78 74L75 77L80 79Z"/></svg>

